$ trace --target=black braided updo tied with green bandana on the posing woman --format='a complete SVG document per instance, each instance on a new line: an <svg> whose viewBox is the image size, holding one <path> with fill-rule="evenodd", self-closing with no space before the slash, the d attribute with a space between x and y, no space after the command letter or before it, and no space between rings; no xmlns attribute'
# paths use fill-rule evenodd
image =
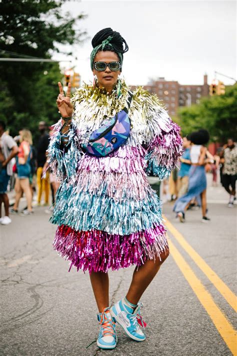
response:
<svg viewBox="0 0 237 356"><path fill-rule="evenodd" d="M93 68L93 60L99 51L111 51L118 55L122 65L123 53L128 51L128 46L119 32L113 31L109 27L97 32L92 38L91 45L93 50L90 55L90 67Z"/></svg>

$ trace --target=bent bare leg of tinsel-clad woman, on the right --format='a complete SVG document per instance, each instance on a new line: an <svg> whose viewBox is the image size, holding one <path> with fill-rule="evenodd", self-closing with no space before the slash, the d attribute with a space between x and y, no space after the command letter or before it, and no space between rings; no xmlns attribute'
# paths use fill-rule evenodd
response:
<svg viewBox="0 0 237 356"><path fill-rule="evenodd" d="M158 272L161 264L168 257L168 251L162 252L160 255L161 261L157 256L154 260L147 260L138 269L136 268L133 272L132 280L128 292L126 294L126 299L132 303L137 304L141 295L144 293L145 289L148 287L156 273Z"/></svg>

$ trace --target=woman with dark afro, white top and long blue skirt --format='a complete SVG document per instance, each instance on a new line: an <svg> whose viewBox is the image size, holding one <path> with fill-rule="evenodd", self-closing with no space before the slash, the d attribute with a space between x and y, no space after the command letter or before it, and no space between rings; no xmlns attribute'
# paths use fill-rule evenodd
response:
<svg viewBox="0 0 237 356"><path fill-rule="evenodd" d="M190 161L191 167L188 173L188 191L178 198L174 204L173 211L177 213L180 222L185 221L185 211L193 198L201 200L202 222L210 219L206 216L206 176L205 164L211 162L213 157L204 145L209 141L206 130L194 131L190 135ZM208 157L208 158L206 158Z"/></svg>

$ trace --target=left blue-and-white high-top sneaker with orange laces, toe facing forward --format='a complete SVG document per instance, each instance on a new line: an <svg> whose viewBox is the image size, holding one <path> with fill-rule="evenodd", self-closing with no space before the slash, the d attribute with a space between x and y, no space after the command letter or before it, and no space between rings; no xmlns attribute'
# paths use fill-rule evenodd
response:
<svg viewBox="0 0 237 356"><path fill-rule="evenodd" d="M115 322L113 321L109 308L104 308L103 311L97 314L100 324L97 345L100 348L112 349L116 347L117 336L115 332Z"/></svg>

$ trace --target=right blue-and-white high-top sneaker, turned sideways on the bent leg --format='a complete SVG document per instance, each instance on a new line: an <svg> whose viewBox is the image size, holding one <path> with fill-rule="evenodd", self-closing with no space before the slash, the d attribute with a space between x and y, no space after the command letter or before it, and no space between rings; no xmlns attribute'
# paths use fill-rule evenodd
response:
<svg viewBox="0 0 237 356"><path fill-rule="evenodd" d="M110 309L110 314L112 318L121 325L125 333L136 341L144 341L145 334L140 329L138 325L139 323L144 327L144 323L140 317L140 307L142 306L141 303L138 303L133 311L132 307L126 302L123 298L114 304Z"/></svg>

